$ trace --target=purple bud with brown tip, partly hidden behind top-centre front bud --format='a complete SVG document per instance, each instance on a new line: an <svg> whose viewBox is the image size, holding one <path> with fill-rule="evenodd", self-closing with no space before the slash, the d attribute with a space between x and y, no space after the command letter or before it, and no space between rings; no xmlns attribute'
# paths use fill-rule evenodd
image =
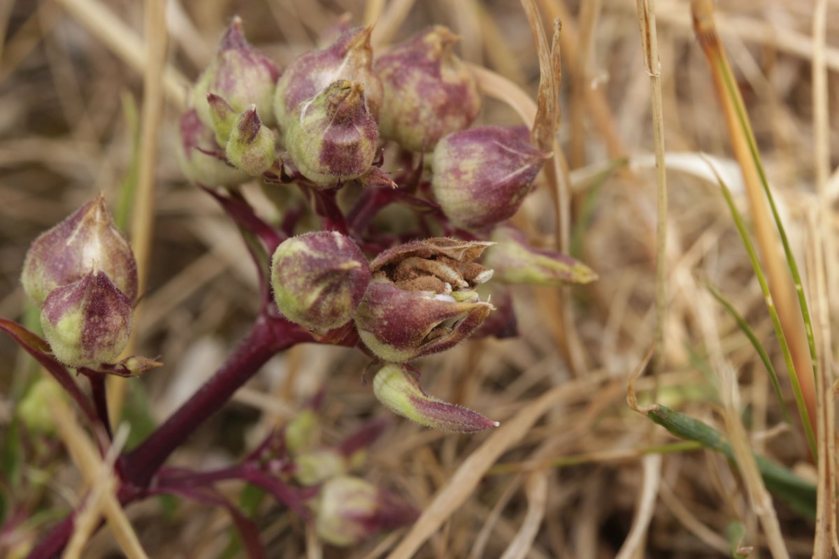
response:
<svg viewBox="0 0 839 559"><path fill-rule="evenodd" d="M280 127L288 127L294 107L308 101L336 80L364 85L367 109L375 119L382 105L382 80L373 71L372 27L357 27L341 34L325 49L311 50L285 69L274 93L274 114Z"/></svg>

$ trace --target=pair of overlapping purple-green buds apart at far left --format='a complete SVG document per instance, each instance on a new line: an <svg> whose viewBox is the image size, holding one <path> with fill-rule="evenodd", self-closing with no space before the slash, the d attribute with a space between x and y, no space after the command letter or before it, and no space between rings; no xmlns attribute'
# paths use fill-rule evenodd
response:
<svg viewBox="0 0 839 559"><path fill-rule="evenodd" d="M102 195L32 243L21 282L41 309L55 359L65 365L112 364L128 345L137 265Z"/></svg>

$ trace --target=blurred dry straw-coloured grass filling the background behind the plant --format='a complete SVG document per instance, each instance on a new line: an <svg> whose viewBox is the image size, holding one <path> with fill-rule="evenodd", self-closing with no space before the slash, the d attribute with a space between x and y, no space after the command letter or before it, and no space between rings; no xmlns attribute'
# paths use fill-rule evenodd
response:
<svg viewBox="0 0 839 559"><path fill-rule="evenodd" d="M142 75L102 43L102 37L66 9L77 0L0 3L0 316L22 319L26 302L18 271L29 242L99 191L116 201L132 173ZM401 0L393 5L409 6ZM456 495L448 480L491 435L451 435L394 420L371 454L365 475L404 494L420 509L449 491L455 505L438 519L417 556L422 557L612 557L628 536L641 500L644 448L672 442L663 429L631 411L625 401L629 373L654 336L655 179L649 76L644 71L634 3L584 0L539 2L545 21L563 14L563 85L560 142L575 184L575 223L583 220L581 257L600 279L574 289L573 317L585 369L572 371L561 358L555 292L516 292L520 339L470 342L421 360L427 391L510 422L550 394L544 417L522 437L503 443L500 463L474 491ZM724 5L722 5L724 4ZM143 7L129 0L97 5L142 36ZM287 64L314 46L341 13L362 22L363 0L171 0L169 62L193 79L211 56L216 39L239 14L253 44ZM800 262L810 246L806 210L816 199L811 59L811 0L743 0L721 3L722 39L752 118L764 163ZM826 64L831 169L839 163L839 2L828 3ZM664 133L668 152L710 153L731 158L722 113L708 65L690 28L686 0L659 0L658 16ZM431 0L415 3L396 39L428 23L461 35L459 54L505 75L535 98L539 65L518 2ZM160 33L155 30L155 33ZM177 83L177 82L176 82ZM185 81L182 87L188 87ZM178 88L167 90L154 179L157 207L149 286L137 325L144 355L162 355L129 394L129 411L150 406L161 420L215 370L257 310L255 277L235 227L205 194L180 176ZM487 101L482 123L518 124L499 101ZM619 156L631 161L592 186L591 176ZM672 160L678 163L677 160ZM674 168L677 165L674 165ZM706 370L718 344L737 374L743 421L753 448L816 479L797 422L787 426L772 396L763 365L737 324L706 292L719 287L752 325L783 370L758 283L722 196L704 169L685 158L670 170L670 234L666 254L669 300L666 354L658 401L720 427L720 398ZM684 170L688 172L684 172ZM737 199L737 168L728 169ZM839 176L829 182L831 202ZM591 194L591 193L594 194ZM248 196L258 199L257 188ZM554 216L545 189L524 212L550 244ZM831 204L831 208L833 205ZM745 208L745 206L744 206ZM744 210L745 211L745 210ZM836 216L832 216L831 235ZM831 246L831 245L828 245ZM835 246L832 245L832 246ZM829 255L835 259L836 255ZM806 283L805 283L806 285ZM710 324L710 326L709 326ZM710 341L710 340L716 341ZM0 429L11 422L20 380L32 375L8 338L0 338ZM294 413L322 383L328 440L383 413L362 386L367 365L349 349L297 347L280 355L224 411L175 454L173 463L209 468L228 463L278 422ZM789 382L784 395L791 402ZM560 391L551 391L565 386ZM649 379L638 382L644 395ZM135 410L136 411L136 410ZM0 435L2 437L2 435ZM495 439L492 439L493 441ZM474 456L472 456L474 458ZM537 460L537 463L529 461ZM523 464L524 463L524 464ZM467 462L467 464L469 464ZM489 464L487 464L489 465ZM462 474L462 472L461 472ZM44 502L66 509L76 499L79 475L67 461L53 476ZM741 520L752 556L766 556L756 515L727 460L692 450L669 453L658 476L654 511L645 541L634 556L730 555L726 528ZM232 484L230 494L239 487ZM775 502L791 556L810 556L813 525ZM223 510L181 503L166 512L158 501L128 511L149 556L215 557L227 543ZM398 532L351 551L320 549L300 520L282 510L261 511L259 525L269 556L380 556L404 536ZM117 546L107 531L85 556L111 557ZM631 556L631 555L627 555Z"/></svg>

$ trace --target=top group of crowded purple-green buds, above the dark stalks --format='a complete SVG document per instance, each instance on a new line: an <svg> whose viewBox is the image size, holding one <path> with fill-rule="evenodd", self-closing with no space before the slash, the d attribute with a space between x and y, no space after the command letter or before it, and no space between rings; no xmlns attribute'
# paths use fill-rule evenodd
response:
<svg viewBox="0 0 839 559"><path fill-rule="evenodd" d="M352 180L393 185L374 165L380 140L430 151L472 123L481 98L452 52L455 34L436 25L375 57L372 31L349 28L281 70L248 44L234 18L181 123L185 174L232 186L276 174L281 162L315 189Z"/></svg>

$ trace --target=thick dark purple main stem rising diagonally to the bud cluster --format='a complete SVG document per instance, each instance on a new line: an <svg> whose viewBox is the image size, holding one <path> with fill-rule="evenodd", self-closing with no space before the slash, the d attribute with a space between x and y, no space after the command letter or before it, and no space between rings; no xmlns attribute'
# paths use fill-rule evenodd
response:
<svg viewBox="0 0 839 559"><path fill-rule="evenodd" d="M298 326L261 315L216 375L124 458L125 483L145 487L195 428L205 422L277 352L310 339Z"/></svg>

